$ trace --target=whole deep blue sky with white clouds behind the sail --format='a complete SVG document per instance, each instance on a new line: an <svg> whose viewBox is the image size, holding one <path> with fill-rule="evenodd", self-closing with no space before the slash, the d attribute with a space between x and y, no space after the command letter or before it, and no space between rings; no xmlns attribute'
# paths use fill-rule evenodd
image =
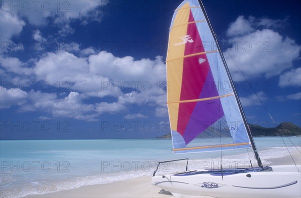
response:
<svg viewBox="0 0 301 198"><path fill-rule="evenodd" d="M181 2L1 1L0 138L168 133L165 58ZM300 126L300 1L203 3L248 121L274 126L255 91L277 124Z"/></svg>

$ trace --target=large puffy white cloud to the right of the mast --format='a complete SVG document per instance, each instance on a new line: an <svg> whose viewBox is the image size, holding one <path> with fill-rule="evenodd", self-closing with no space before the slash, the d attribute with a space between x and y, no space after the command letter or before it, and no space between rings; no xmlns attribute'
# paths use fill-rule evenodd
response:
<svg viewBox="0 0 301 198"><path fill-rule="evenodd" d="M227 35L232 45L224 55L234 80L244 78L232 58L247 78L268 78L293 66L301 46L274 30L284 23L284 20L239 16L230 24Z"/></svg>

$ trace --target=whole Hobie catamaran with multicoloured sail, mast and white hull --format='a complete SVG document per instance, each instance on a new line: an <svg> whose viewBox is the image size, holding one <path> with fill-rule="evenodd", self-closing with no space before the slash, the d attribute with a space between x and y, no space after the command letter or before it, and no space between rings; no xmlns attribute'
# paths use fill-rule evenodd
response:
<svg viewBox="0 0 301 198"><path fill-rule="evenodd" d="M201 0L184 0L175 10L166 64L174 153L252 148L258 166L190 171L186 159L186 171L159 174L159 165L170 162L161 161L153 185L176 196L301 196L300 167L263 166Z"/></svg>

